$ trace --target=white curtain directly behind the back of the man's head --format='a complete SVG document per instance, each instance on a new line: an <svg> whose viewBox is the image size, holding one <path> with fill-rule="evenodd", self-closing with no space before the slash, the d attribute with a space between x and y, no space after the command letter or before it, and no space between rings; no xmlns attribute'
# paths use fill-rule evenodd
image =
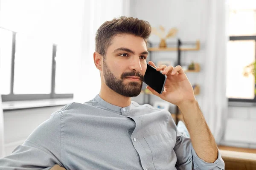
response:
<svg viewBox="0 0 256 170"><path fill-rule="evenodd" d="M99 70L93 62L95 36L99 26L107 20L121 15L128 16L129 0L85 0L83 24L81 26L80 55L76 58L75 102L87 102L100 90Z"/></svg>

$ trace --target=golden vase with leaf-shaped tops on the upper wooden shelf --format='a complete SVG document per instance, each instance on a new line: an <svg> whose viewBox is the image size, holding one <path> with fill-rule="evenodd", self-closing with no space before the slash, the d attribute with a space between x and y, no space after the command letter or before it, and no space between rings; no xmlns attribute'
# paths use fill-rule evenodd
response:
<svg viewBox="0 0 256 170"><path fill-rule="evenodd" d="M169 30L169 32L166 34L166 36L164 37L164 34L165 34L165 28L163 28L163 26L160 26L160 32L157 30L157 28L152 28L152 34L155 34L157 35L158 37L160 37L161 41L160 41L160 44L159 44L159 48L166 48L167 45L166 45L166 40L171 38L171 37L174 37L176 34L177 34L177 28L171 28Z"/></svg>

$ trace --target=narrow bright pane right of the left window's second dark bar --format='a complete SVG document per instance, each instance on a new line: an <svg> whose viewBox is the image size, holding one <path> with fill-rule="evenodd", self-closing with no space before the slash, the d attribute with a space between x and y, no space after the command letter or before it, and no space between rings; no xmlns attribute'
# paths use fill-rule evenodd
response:
<svg viewBox="0 0 256 170"><path fill-rule="evenodd" d="M73 94L73 61L72 51L67 50L66 45L58 45L55 57L56 73L55 73L55 94ZM74 51L73 51L74 52ZM70 53L70 54L69 54Z"/></svg>

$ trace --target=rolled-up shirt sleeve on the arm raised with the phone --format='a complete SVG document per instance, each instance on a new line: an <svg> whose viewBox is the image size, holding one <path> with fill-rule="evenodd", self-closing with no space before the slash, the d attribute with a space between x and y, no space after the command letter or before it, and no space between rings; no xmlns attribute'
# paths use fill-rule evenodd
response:
<svg viewBox="0 0 256 170"><path fill-rule="evenodd" d="M174 150L177 156L177 170L224 170L225 164L219 150L218 158L213 163L206 162L195 153L191 139L179 132Z"/></svg>

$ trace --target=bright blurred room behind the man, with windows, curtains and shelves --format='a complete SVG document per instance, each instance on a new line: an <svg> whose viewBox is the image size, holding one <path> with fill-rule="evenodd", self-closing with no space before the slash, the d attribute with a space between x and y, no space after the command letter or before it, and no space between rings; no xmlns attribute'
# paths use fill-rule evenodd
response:
<svg viewBox="0 0 256 170"><path fill-rule="evenodd" d="M255 0L0 0L0 157L99 93L95 33L121 15L153 27L148 60L186 70L219 148L256 153ZM182 121L144 88L134 101Z"/></svg>

